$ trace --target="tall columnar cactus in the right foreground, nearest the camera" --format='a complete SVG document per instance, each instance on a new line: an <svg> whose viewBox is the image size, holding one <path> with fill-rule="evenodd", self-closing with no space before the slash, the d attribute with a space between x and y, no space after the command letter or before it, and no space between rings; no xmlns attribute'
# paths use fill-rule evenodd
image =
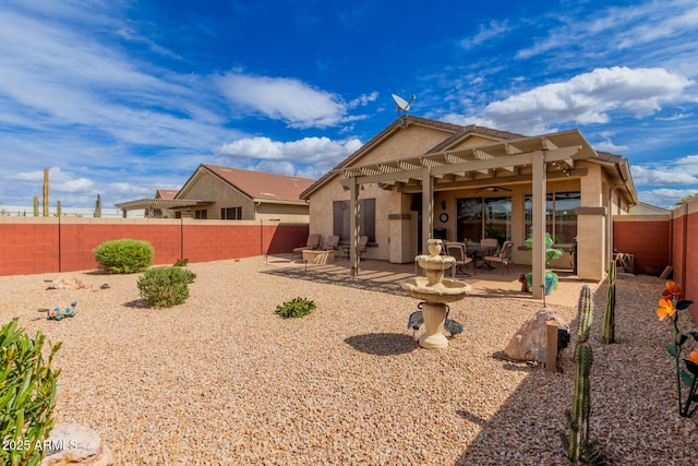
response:
<svg viewBox="0 0 698 466"><path fill-rule="evenodd" d="M565 454L574 464L590 463L601 457L595 442L589 442L589 413L591 411L589 374L593 354L589 345L593 301L591 289L585 285L579 295L579 330L575 346L575 393L571 413L567 411L569 437L561 434Z"/></svg>

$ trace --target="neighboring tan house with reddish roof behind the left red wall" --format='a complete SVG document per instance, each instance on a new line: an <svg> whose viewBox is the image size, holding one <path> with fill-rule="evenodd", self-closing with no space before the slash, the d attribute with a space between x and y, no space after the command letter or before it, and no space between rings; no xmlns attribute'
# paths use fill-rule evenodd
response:
<svg viewBox="0 0 698 466"><path fill-rule="evenodd" d="M179 191L158 190L155 199L116 204L123 211L159 211L167 217L309 223L308 202L299 195L314 180L202 164ZM170 193L174 195L170 196ZM153 215L151 215L153 214Z"/></svg>

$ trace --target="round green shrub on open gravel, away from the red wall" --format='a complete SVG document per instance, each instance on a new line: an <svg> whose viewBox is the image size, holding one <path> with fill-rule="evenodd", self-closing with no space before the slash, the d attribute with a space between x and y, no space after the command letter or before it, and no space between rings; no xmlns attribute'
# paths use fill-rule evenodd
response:
<svg viewBox="0 0 698 466"><path fill-rule="evenodd" d="M196 274L181 267L155 267L139 278L141 297L153 307L170 308L189 298L189 284Z"/></svg>

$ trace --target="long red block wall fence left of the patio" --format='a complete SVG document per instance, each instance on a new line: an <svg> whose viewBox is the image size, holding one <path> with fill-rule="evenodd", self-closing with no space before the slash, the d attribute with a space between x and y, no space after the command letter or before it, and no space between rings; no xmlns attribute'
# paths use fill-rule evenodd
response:
<svg viewBox="0 0 698 466"><path fill-rule="evenodd" d="M308 232L269 220L0 217L0 276L95 270L93 249L113 239L149 242L161 265L290 252Z"/></svg>

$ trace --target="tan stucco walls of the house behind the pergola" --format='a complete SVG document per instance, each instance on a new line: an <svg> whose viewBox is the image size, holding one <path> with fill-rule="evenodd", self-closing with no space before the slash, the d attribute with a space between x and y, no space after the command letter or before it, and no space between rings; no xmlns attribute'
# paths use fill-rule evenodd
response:
<svg viewBox="0 0 698 466"><path fill-rule="evenodd" d="M402 130L383 144L368 153L363 159L354 165L361 166L369 163L385 162L392 159L419 156L428 148L436 145L445 138L441 131L429 130L421 127L410 127ZM472 138L462 146L481 145L491 142L484 138ZM586 175L570 178L549 178L547 192L580 191L580 213L578 213L578 276L582 279L602 280L605 277L606 262L610 258L610 244L612 238L611 211L616 205L616 211L627 213L625 202L617 207L615 196L610 193L611 182L606 179L602 167L594 163L577 160L575 169L586 169ZM530 168L520 170L515 181L520 182L520 177L529 175ZM512 189L510 192L474 193L474 189L456 189L440 191L443 187L438 183L434 192L434 228L446 228L448 240L462 241L457 236L457 199L472 196L510 196L512 198L512 240L514 241L513 260L517 264L530 264L530 251L525 249L525 195L532 192L528 184L506 184L506 176L492 179L492 184L502 184ZM515 177L516 178L516 177ZM376 199L376 242L377 247L369 248L368 258L383 259L392 262L409 262L417 253L417 213L410 212L413 190L405 193L385 191L376 184L366 184L360 191L361 198ZM311 196L311 232L318 232L323 237L333 234L333 201L349 201L349 192L344 191L339 183L339 177L318 189ZM446 208L442 208L442 201ZM591 208L589 208L591 207ZM438 216L447 213L448 222L442 223ZM392 216L393 219L388 219ZM409 246L406 243L409 241ZM571 267L570 256L564 254L558 261L551 264L554 267Z"/></svg>

